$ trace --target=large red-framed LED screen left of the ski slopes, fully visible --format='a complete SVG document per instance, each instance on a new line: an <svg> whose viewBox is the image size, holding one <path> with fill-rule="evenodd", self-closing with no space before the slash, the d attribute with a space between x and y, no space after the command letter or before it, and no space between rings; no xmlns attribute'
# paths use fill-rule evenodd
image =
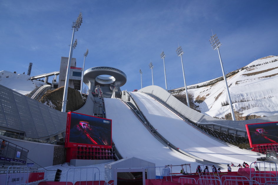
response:
<svg viewBox="0 0 278 185"><path fill-rule="evenodd" d="M111 144L111 119L68 113L65 147L111 148Z"/></svg>

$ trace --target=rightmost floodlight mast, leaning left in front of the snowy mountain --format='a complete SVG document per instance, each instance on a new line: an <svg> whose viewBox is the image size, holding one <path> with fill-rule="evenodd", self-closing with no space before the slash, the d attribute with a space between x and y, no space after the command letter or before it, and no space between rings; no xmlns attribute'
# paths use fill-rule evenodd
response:
<svg viewBox="0 0 278 185"><path fill-rule="evenodd" d="M235 121L236 118L235 118L235 115L234 115L234 109L233 109L233 105L232 105L232 101L231 101L231 97L230 97L230 92L229 92L229 88L228 88L228 84L227 84L227 80L226 80L226 75L225 75L223 64L222 64L222 59L221 59L220 52L219 52L219 47L222 44L219 42L219 39L216 36L216 34L213 34L213 33L212 33L212 36L209 39L209 41L211 43L212 49L213 50L217 49L217 51L218 51L218 55L219 55L219 59L220 59L220 64L221 64L221 68L222 68L222 73L223 73L223 77L224 77L224 81L225 81L225 85L226 85L226 92L227 92L227 96L228 96L228 100L229 100L229 104L230 104L230 111L231 111L232 119Z"/></svg>

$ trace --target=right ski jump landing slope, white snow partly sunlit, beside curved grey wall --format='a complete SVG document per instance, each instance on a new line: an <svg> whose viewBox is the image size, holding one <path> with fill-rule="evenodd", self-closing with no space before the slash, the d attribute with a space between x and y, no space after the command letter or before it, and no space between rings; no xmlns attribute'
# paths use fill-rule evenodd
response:
<svg viewBox="0 0 278 185"><path fill-rule="evenodd" d="M152 97L141 93L130 93L150 124L169 142L193 156L214 163L251 164L260 154L230 146L217 141L190 124L181 120L176 114L164 107Z"/></svg>

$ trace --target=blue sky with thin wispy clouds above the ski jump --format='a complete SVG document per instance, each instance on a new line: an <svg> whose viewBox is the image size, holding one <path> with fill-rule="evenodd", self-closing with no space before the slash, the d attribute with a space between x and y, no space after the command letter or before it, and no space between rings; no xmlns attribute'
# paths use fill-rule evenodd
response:
<svg viewBox="0 0 278 185"><path fill-rule="evenodd" d="M154 85L168 89L184 86L178 44L182 46L186 84L222 75L217 51L209 43L211 29L222 43L225 71L278 55L277 0L0 0L0 71L31 76L59 71L61 56L69 56L72 21L82 12L73 51L77 67L89 49L85 70L96 66L118 68L127 75L122 90L152 85L148 64L153 63ZM51 80L49 80L51 81Z"/></svg>

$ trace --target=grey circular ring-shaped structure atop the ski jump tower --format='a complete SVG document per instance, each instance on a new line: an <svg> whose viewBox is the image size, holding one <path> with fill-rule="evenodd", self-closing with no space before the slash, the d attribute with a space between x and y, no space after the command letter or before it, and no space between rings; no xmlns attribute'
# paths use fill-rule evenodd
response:
<svg viewBox="0 0 278 185"><path fill-rule="evenodd" d="M104 77L101 75L109 75L109 77ZM91 90L93 90L97 84L100 86L113 84L120 90L120 87L126 83L127 77L120 69L101 66L92 67L84 71L83 81Z"/></svg>

